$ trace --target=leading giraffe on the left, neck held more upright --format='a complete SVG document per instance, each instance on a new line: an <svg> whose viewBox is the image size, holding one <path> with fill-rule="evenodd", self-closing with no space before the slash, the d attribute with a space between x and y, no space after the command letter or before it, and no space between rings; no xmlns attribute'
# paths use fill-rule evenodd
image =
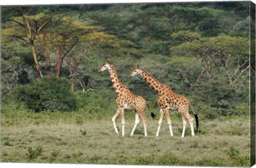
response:
<svg viewBox="0 0 256 168"><path fill-rule="evenodd" d="M118 109L115 115L112 117L111 121L113 122L115 132L118 134L118 130L116 127L116 117L121 114L121 123L122 123L122 136L124 136L124 110L135 110L135 123L131 132L131 136L133 135L137 124L140 122L140 118L143 121L145 137L147 137L147 118L145 116L145 105L146 100L143 99L139 95L133 94L118 78L116 73L116 69L113 65L107 61L103 63L103 66L99 69L99 73L102 71L109 71L109 75L111 78L111 82L113 84L114 90L117 94L116 103Z"/></svg>

